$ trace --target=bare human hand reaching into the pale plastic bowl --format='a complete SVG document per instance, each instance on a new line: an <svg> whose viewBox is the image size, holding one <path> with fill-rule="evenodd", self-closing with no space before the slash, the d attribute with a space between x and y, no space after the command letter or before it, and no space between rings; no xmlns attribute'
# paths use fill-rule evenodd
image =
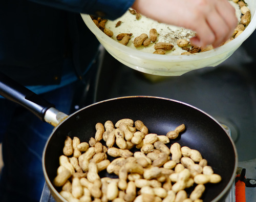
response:
<svg viewBox="0 0 256 202"><path fill-rule="evenodd" d="M238 24L227 0L135 0L132 8L161 23L195 31L190 42L198 47L220 46Z"/></svg>

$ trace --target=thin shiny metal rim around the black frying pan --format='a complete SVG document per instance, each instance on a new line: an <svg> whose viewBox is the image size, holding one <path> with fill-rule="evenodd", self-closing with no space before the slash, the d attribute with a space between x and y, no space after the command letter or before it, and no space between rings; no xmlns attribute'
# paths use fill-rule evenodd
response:
<svg viewBox="0 0 256 202"><path fill-rule="evenodd" d="M113 100L118 100L118 99L129 99L129 98L153 98L153 99L162 99L162 100L168 100L168 101L172 101L172 102L177 102L177 103L180 103L180 104L183 104L183 105L186 105L186 106L189 106L191 108L194 108L198 111L200 111L201 113L203 113L204 115L208 116L209 118L211 118L212 120L214 120L226 133L227 137L229 138L229 141L231 142L232 144L232 147L233 147L233 150L234 150L234 157L235 157L235 162L234 162L234 170L233 170L233 173L231 175L231 178L228 182L228 184L226 185L226 187L222 190L222 192L216 197L214 198L213 200L211 200L211 202L216 202L218 200L220 200L225 194L228 194L228 190L230 189L230 187L233 185L233 182L234 182L234 179L236 177L236 168L238 167L238 153L237 153L237 149L236 149L236 145L234 144L233 140L231 139L231 137L228 135L227 131L224 129L224 127L212 116L210 116L209 114L207 114L205 111L193 106L193 105L190 105L188 103L185 103L185 102L182 102L182 101L178 101L178 100L174 100L174 99L170 99L170 98L164 98L164 97L158 97L158 96L122 96L122 97L116 97L116 98L111 98L111 99L106 99L106 100L102 100L102 101L99 101L99 102L96 102L96 103L93 103L93 104L90 104L86 107L83 107L77 111L75 111L73 114L69 115L65 120L63 120L61 123L59 123L56 127L54 127L52 133L50 134L47 142L46 142L46 145L44 147L44 151L43 151L43 154L42 154L42 167L43 167L43 172L44 172L44 176L45 176L45 180L46 180L46 183L47 185L49 186L50 190L56 195L58 196L58 198L60 198L63 202L68 202L65 198L63 198L59 192L55 189L55 187L52 185L49 177L48 177L48 174L46 172L46 168L45 168L45 154L46 154L46 149L47 149L47 146L49 144L49 141L51 140L51 137L53 136L54 132L58 129L58 127L60 125L62 125L62 123L64 123L65 121L67 121L70 117L73 117L75 114L79 113L79 111L81 110L84 110L88 107L91 107L91 106L94 106L94 105L97 105L97 104L100 104L100 103L104 103L104 102L109 102L109 101L113 101ZM51 192L51 193L52 193Z"/></svg>

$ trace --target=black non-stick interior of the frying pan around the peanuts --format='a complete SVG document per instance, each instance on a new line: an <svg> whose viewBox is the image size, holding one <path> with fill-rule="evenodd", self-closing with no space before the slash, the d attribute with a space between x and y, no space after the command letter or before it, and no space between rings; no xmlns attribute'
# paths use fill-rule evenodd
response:
<svg viewBox="0 0 256 202"><path fill-rule="evenodd" d="M219 184L206 185L202 199L212 201L221 192L221 195L227 192L227 186L230 187L236 170L237 153L221 125L203 111L185 103L143 96L117 98L90 105L57 126L44 154L46 177L49 177L50 182L56 176L58 158L62 154L66 136L78 137L81 142L88 142L95 135L97 122L104 124L111 120L115 123L123 118L141 120L151 133L159 135L165 135L184 123L186 130L178 139L171 140L170 144L178 142L181 146L199 150L215 173L222 176ZM101 173L103 176L105 174Z"/></svg>

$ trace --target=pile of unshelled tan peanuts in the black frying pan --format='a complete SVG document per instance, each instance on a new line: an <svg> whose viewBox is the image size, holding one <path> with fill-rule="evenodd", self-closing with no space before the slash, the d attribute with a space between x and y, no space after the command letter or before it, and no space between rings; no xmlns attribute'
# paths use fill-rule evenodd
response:
<svg viewBox="0 0 256 202"><path fill-rule="evenodd" d="M221 181L198 150L179 143L166 146L181 135L184 124L166 135L148 133L142 121L132 119L115 125L108 120L95 128L88 143L67 136L59 157L53 185L69 202L200 202L205 184ZM118 178L100 177L101 171Z"/></svg>

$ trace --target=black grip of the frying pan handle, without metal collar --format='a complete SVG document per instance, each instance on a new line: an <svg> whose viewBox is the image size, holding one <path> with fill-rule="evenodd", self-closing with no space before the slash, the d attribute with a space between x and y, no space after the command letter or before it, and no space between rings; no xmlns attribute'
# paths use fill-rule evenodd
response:
<svg viewBox="0 0 256 202"><path fill-rule="evenodd" d="M53 104L0 72L0 95L29 109L45 121L45 113Z"/></svg>

